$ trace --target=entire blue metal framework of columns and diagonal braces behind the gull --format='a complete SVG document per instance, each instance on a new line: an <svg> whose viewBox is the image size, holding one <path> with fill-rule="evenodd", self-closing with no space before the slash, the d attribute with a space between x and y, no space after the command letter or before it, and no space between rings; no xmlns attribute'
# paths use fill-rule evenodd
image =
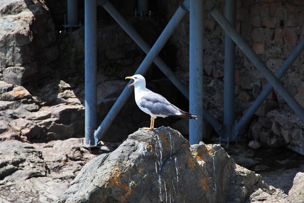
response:
<svg viewBox="0 0 304 203"><path fill-rule="evenodd" d="M253 52L252 48L245 42L245 40L237 33L235 29L235 13L236 13L236 0L227 0L226 2L226 19L220 11L216 8L216 5L211 0L185 0L183 4L177 9L174 16L169 21L168 25L160 35L160 37L156 40L153 47L150 49L149 45L135 32L135 29L117 12L117 10L110 4L108 0L99 0L99 4L101 4L109 14L118 22L118 24L132 37L137 45L147 54L135 74L144 74L152 62L154 62L160 70L169 77L169 79L173 82L173 84L185 95L186 98L190 98L190 111L197 114L199 118L204 118L207 122L209 122L212 127L218 132L220 135L220 140L234 141L236 140L236 136L240 130L244 128L244 126L249 122L250 118L253 116L254 111L261 105L263 100L267 97L267 95L272 90L272 87L279 92L282 97L285 99L287 104L297 113L297 115L304 121L304 109L299 105L299 103L291 96L291 94L286 90L284 85L280 82L280 78L287 71L290 65L295 61L295 59L300 55L300 53L304 49L304 39L302 39L296 48L291 52L283 65L279 68L276 74L272 74L271 71L267 68L267 66L262 62L262 60ZM202 36L203 36L203 4L210 12L210 14L219 22L222 28L226 32L225 37L225 82L224 82L224 125L221 125L211 114L209 111L203 108L203 50L202 50ZM87 3L85 5L92 6L92 4ZM181 81L172 73L169 67L157 56L162 47L165 45L170 35L176 28L177 24L181 21L183 16L186 14L187 10L190 7L190 92L186 89L186 87L181 83ZM191 11L192 7L192 11ZM91 7L92 8L92 7ZM89 11L91 12L91 11ZM90 18L85 16L86 18ZM92 23L92 22L91 22ZM96 22L94 22L96 23ZM88 23L88 27L90 28L90 23ZM94 30L94 28L93 28ZM87 31L89 32L89 31ZM90 36L85 33L86 37ZM192 40L192 41L191 41ZM86 39L86 43L88 47L90 47L90 41ZM266 79L270 82L265 89L261 92L261 94L256 98L253 102L253 105L246 111L244 116L240 119L240 121L233 126L234 124L234 69L235 69L235 43L236 45L244 52L244 54L253 62L255 67L266 77ZM90 53L93 49L86 50L86 53ZM194 50L194 51L193 51ZM90 70L90 63L95 61L93 58L85 59L86 67ZM193 58L193 59L191 59ZM91 64L94 66L94 63ZM86 72L87 73L87 72ZM94 72L92 72L94 74ZM92 73L87 74L86 76L86 87L91 87L94 83L94 77ZM96 75L96 74L95 74ZM91 78L93 77L93 80ZM196 79L196 80L194 80ZM95 79L96 82L96 79ZM191 88L192 87L192 88ZM91 94L91 93L92 94ZM94 119L91 114L94 108L91 108L94 104L91 101L95 101L96 99L96 86L95 89L91 89L90 92L86 92L86 96L90 98L85 99L85 136L86 143L91 142L92 145L96 145L97 141L101 138L104 132L108 129L110 124L113 122L114 118L117 116L118 112L127 101L128 97L131 95L132 91L126 88L123 90L121 95L118 97L118 100L109 111L107 116L104 118L103 122L99 126L99 128L95 131L94 137L92 136L92 126L96 125L96 119ZM95 94L95 99L94 99ZM190 96L189 96L190 95ZM191 103L194 101L193 103ZM196 102L198 101L198 102ZM88 104L87 104L88 102ZM96 104L95 104L96 105ZM87 110L88 109L88 110ZM95 111L96 112L96 111ZM202 116L203 115L203 116ZM94 120L94 121L93 121ZM201 123L198 125L197 123L190 122L190 144L198 143L202 140L201 133L203 132L203 120L200 119ZM201 126L200 126L201 125ZM89 128L87 128L89 127Z"/></svg>

